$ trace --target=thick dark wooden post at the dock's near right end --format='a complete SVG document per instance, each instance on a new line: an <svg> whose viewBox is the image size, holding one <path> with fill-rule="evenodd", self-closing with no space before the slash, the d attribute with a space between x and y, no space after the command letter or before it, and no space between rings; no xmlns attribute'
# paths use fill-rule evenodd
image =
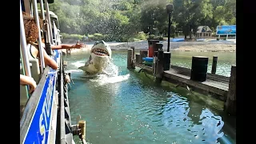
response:
<svg viewBox="0 0 256 144"><path fill-rule="evenodd" d="M236 99L236 66L231 66L230 85L226 98L225 110L228 114L236 115L237 112L237 99Z"/></svg>

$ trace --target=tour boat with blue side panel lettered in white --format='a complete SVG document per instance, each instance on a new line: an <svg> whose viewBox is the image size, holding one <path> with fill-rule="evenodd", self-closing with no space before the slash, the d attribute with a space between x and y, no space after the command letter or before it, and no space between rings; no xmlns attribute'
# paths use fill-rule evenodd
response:
<svg viewBox="0 0 256 144"><path fill-rule="evenodd" d="M49 10L49 3L53 2L54 0L20 1L20 74L30 76L37 82L37 87L32 94L28 93L28 86L20 86L20 143L22 144L74 144L74 135L78 135L82 143L86 143L86 122L80 116L77 118L77 123L71 124L68 82L66 82L66 78L70 78L71 74L66 71L62 51L47 47L47 44L61 43L58 16ZM42 13L38 13L38 4ZM39 29L38 46L41 65L38 59L29 59L27 55L28 47L26 47L22 11L31 14L38 26L39 16L44 22L45 20L49 22L43 30ZM58 63L57 70L45 66L41 38L45 39L47 54L49 53Z"/></svg>

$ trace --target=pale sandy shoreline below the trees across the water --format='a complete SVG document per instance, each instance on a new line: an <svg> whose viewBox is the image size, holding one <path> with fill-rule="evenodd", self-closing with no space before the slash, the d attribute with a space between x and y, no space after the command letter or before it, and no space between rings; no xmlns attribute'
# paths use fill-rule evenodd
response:
<svg viewBox="0 0 256 144"><path fill-rule="evenodd" d="M109 44L111 50L127 50L130 46L134 46L135 50L148 50L148 42L106 42ZM160 41L162 43L162 50L167 50L167 42ZM64 44L64 43L63 43ZM73 44L73 43L65 43ZM94 42L86 42L86 47L81 49L72 49L71 54L89 51L94 45ZM194 52L236 52L236 43L229 41L218 42L170 42L170 51L194 51ZM66 54L66 50L62 49L62 52Z"/></svg>

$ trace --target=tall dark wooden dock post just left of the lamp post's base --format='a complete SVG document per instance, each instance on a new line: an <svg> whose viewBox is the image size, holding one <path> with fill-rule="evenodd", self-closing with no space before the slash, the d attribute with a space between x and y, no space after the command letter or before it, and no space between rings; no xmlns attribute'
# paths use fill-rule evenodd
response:
<svg viewBox="0 0 256 144"><path fill-rule="evenodd" d="M155 71L155 78L154 82L161 83L162 82L162 75L163 75L163 51L158 50L158 60L157 60L157 70Z"/></svg>

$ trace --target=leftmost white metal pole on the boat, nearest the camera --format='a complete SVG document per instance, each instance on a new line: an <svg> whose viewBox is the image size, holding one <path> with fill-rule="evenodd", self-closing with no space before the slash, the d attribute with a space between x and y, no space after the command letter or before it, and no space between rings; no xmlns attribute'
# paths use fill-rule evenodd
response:
<svg viewBox="0 0 256 144"><path fill-rule="evenodd" d="M21 2L20 2L19 28L20 28L20 36L19 36L20 37L20 50L22 52L22 65L25 69L26 76L31 77L30 62L29 62L29 57L26 52L26 36L25 36L25 30L24 30Z"/></svg>

